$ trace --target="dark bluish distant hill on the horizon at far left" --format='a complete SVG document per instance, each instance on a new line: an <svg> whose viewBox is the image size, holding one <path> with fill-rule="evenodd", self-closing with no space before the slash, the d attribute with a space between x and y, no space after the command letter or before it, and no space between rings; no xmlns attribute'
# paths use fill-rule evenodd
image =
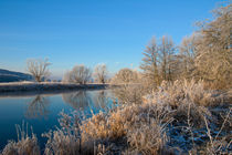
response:
<svg viewBox="0 0 232 155"><path fill-rule="evenodd" d="M30 74L0 69L0 83L32 80L33 76Z"/></svg>

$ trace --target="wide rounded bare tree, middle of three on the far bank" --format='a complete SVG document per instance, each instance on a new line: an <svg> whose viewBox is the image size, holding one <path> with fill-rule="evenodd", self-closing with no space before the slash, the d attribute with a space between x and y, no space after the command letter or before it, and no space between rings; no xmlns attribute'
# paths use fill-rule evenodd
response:
<svg viewBox="0 0 232 155"><path fill-rule="evenodd" d="M86 68L85 65L75 65L70 72L68 81L80 84L86 84L89 81L91 75L91 69Z"/></svg>

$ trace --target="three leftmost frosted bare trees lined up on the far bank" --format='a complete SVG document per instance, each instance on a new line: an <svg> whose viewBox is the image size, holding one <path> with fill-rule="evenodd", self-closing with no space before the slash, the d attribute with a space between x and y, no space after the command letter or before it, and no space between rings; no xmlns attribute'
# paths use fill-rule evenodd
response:
<svg viewBox="0 0 232 155"><path fill-rule="evenodd" d="M31 59L28 60L27 70L32 74L36 82L46 81L51 72L49 71L49 66L51 63L48 59ZM94 69L94 72L85 66L84 64L75 65L72 71L67 71L62 82L70 83L78 83L86 84L94 79L94 82L106 83L108 79L108 70L105 64L97 64Z"/></svg>

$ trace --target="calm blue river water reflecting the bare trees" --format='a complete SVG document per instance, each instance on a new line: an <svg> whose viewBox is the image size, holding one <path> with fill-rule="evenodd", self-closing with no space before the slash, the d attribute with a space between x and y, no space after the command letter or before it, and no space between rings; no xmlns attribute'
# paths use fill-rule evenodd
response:
<svg viewBox="0 0 232 155"><path fill-rule="evenodd" d="M62 94L30 96L0 96L0 149L8 140L17 140L15 124L24 121L33 126L41 146L46 138L41 134L59 125L60 112L76 113L91 117L92 113L107 112L114 105L109 90L76 91Z"/></svg>

